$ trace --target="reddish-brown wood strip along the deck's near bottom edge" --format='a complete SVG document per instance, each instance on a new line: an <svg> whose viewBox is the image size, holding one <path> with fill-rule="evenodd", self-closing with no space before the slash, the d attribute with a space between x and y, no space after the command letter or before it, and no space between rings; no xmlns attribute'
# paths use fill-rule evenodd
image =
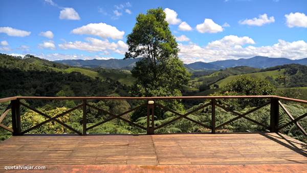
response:
<svg viewBox="0 0 307 173"><path fill-rule="evenodd" d="M29 171L15 171L29 172ZM259 172L307 172L303 164L250 164L250 165L55 165L46 170L31 170L31 172L228 172L228 173L259 173Z"/></svg>

